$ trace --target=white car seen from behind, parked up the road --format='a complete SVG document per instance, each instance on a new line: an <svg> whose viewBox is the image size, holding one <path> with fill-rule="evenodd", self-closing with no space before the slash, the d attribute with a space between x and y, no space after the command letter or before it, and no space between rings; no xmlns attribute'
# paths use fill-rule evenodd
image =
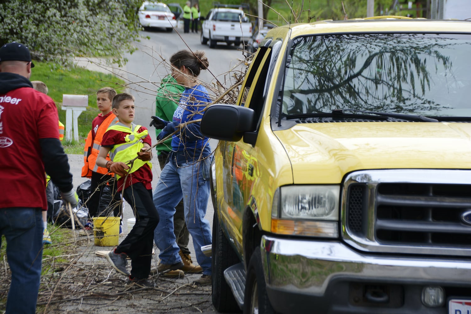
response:
<svg viewBox="0 0 471 314"><path fill-rule="evenodd" d="M162 27L171 32L177 27L177 20L170 8L162 2L145 1L139 8L139 22L146 27Z"/></svg>

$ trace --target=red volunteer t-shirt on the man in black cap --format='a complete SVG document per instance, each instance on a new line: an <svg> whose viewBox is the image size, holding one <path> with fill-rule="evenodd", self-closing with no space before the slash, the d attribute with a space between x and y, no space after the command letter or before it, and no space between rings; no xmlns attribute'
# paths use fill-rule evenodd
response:
<svg viewBox="0 0 471 314"><path fill-rule="evenodd" d="M0 94L0 208L47 209L40 138L59 138L57 107L30 87Z"/></svg>

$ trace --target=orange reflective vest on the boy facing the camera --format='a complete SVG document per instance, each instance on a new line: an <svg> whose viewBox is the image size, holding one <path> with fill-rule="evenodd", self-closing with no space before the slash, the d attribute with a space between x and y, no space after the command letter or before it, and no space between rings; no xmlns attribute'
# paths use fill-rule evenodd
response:
<svg viewBox="0 0 471 314"><path fill-rule="evenodd" d="M91 177L92 171L101 174L109 174L110 176L114 175L114 173L108 173L108 169L97 166L97 157L100 152L101 140L103 139L106 129L116 122L118 122L118 118L116 118L114 113L111 113L98 127L95 138L92 137L90 130L83 149L82 177ZM109 155L106 156L106 160L111 160Z"/></svg>

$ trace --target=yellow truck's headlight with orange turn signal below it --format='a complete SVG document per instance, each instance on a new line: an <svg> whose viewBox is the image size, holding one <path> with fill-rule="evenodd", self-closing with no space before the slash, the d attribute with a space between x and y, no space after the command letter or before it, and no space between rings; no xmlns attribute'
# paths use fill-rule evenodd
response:
<svg viewBox="0 0 471 314"><path fill-rule="evenodd" d="M337 237L339 198L339 185L282 186L273 197L271 231Z"/></svg>

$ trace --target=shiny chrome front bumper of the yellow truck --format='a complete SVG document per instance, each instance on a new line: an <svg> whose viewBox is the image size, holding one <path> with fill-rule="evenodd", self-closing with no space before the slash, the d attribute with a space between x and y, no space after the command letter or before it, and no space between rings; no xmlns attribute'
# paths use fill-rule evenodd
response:
<svg viewBox="0 0 471 314"><path fill-rule="evenodd" d="M262 237L261 246L268 296L275 309L284 313L287 313L287 307L283 308L287 302L290 303L290 311L301 309L298 307L299 302L289 301L296 298L311 308L325 302L332 303L329 310L319 313L342 313L332 310L336 298L340 298L340 288L333 288L336 285L338 287L339 282L347 287L342 293L347 294L344 303L348 308L351 306L348 304L348 285L352 282L402 285L406 287L405 293L410 293L412 290L408 289L414 286L419 291L419 304L420 290L424 285L471 288L471 263L464 258L373 256L361 254L341 242L278 239L270 236ZM336 297L333 296L335 290ZM404 307L400 310L402 312L388 313L409 313ZM361 313L355 310L349 312L346 308L342 311Z"/></svg>

